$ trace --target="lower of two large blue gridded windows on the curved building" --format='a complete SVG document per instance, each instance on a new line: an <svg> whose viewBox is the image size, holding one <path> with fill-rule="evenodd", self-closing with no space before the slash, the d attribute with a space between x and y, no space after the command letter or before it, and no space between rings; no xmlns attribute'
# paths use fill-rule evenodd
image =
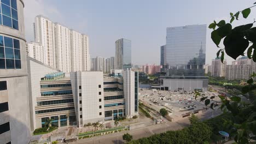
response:
<svg viewBox="0 0 256 144"><path fill-rule="evenodd" d="M0 35L0 69L21 69L19 40Z"/></svg>

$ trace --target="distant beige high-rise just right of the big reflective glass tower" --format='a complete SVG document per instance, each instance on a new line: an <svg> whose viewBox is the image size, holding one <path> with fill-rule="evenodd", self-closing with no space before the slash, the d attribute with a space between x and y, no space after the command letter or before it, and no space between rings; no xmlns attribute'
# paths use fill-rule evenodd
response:
<svg viewBox="0 0 256 144"><path fill-rule="evenodd" d="M223 63L220 58L212 59L212 71L211 75L213 77L224 77L226 75L226 61Z"/></svg>

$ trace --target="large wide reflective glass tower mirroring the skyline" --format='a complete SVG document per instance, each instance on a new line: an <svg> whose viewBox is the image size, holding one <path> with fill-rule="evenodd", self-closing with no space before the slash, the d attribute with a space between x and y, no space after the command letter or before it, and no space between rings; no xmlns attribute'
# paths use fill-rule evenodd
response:
<svg viewBox="0 0 256 144"><path fill-rule="evenodd" d="M170 76L203 76L206 25L166 29L166 65Z"/></svg>

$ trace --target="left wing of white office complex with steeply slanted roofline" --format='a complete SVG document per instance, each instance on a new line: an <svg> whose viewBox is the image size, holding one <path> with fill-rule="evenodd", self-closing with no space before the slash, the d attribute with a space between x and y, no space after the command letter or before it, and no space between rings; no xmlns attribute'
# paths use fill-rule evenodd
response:
<svg viewBox="0 0 256 144"><path fill-rule="evenodd" d="M27 65L31 131L76 124L70 77L31 57Z"/></svg>

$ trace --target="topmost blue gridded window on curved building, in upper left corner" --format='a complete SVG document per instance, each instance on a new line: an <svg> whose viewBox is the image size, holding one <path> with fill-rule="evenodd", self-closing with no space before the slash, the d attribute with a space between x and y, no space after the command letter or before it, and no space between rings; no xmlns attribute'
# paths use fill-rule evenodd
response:
<svg viewBox="0 0 256 144"><path fill-rule="evenodd" d="M19 30L17 0L2 0L0 10L0 25ZM1 14L2 11L2 14ZM2 21L3 19L3 21Z"/></svg>

